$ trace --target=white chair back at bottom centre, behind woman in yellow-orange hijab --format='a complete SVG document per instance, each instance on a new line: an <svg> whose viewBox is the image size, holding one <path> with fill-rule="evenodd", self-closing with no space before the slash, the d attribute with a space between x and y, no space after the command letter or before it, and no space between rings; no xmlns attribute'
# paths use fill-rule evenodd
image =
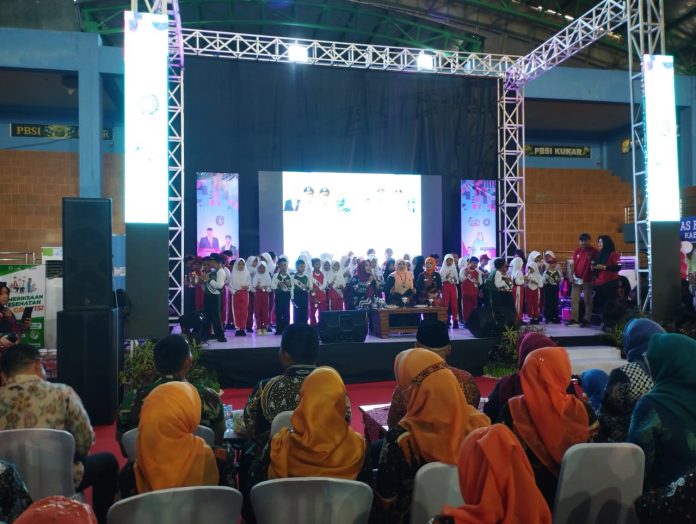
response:
<svg viewBox="0 0 696 524"><path fill-rule="evenodd" d="M355 480L326 477L274 479L251 489L258 524L362 524L372 489Z"/></svg>

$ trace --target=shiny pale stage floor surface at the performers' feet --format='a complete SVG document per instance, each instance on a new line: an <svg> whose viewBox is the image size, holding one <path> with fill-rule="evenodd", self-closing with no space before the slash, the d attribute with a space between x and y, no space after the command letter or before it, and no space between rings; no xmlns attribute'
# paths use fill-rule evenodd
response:
<svg viewBox="0 0 696 524"><path fill-rule="evenodd" d="M604 333L598 326L591 326L586 328L581 328L579 326L566 326L564 324L542 324L545 329L544 334L552 339L567 339L567 338L593 338L597 336L603 336ZM450 339L455 340L482 340L477 339L471 332L466 328L452 329L450 328ZM280 347L281 337L275 333L272 335L257 335L254 333L247 333L244 337L235 337L234 330L225 331L225 337L227 342L217 342L215 339L209 340L205 343L206 350L220 350L220 349L254 349L254 348L278 348ZM395 335L389 338L379 338L368 334L365 339L365 344L390 344L393 342L414 342L416 340L415 335Z"/></svg>

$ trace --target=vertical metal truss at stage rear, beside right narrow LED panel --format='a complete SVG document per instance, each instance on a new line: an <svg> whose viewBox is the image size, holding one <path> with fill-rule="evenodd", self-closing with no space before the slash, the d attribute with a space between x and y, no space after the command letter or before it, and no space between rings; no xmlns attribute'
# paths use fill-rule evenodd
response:
<svg viewBox="0 0 696 524"><path fill-rule="evenodd" d="M512 258L527 251L524 183L524 92L498 82L498 246Z"/></svg>

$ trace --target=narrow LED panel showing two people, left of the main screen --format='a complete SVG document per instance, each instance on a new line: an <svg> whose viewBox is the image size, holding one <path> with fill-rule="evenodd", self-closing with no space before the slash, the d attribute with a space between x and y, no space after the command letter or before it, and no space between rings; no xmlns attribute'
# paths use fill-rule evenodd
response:
<svg viewBox="0 0 696 524"><path fill-rule="evenodd" d="M239 175L196 173L197 254L239 254Z"/></svg>

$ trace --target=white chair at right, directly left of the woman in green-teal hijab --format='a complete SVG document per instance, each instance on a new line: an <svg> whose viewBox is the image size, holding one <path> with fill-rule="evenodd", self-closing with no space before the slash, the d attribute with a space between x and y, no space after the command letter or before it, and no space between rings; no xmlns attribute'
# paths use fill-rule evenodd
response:
<svg viewBox="0 0 696 524"><path fill-rule="evenodd" d="M565 455L554 524L638 522L633 503L643 491L645 455L635 444L576 444Z"/></svg>

